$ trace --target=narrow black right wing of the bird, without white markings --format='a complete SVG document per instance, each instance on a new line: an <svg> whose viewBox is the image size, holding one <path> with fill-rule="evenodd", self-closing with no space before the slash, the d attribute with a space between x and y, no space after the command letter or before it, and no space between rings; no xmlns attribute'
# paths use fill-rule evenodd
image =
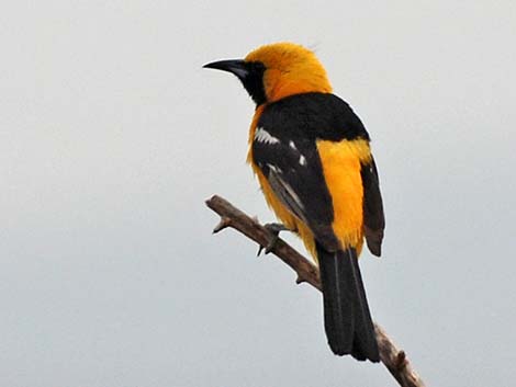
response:
<svg viewBox="0 0 516 387"><path fill-rule="evenodd" d="M369 251L380 257L385 217L374 159L371 159L368 164L362 164L360 173L363 185L363 234L366 235Z"/></svg>

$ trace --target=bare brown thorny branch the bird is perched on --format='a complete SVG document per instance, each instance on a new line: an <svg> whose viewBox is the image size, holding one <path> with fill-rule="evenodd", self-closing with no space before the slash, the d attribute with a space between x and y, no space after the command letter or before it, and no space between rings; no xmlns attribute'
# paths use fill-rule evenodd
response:
<svg viewBox="0 0 516 387"><path fill-rule="evenodd" d="M221 216L221 221L213 232L218 232L226 227L232 227L260 246L269 246L274 236L261 226L256 218L251 218L221 196L213 196L206 201L206 205ZM296 283L306 282L321 291L318 269L306 258L294 250L281 238L277 240L271 250L298 273ZM417 373L411 365L405 351L400 350L389 338L385 330L374 323L377 341L380 351L380 360L402 387L425 387Z"/></svg>

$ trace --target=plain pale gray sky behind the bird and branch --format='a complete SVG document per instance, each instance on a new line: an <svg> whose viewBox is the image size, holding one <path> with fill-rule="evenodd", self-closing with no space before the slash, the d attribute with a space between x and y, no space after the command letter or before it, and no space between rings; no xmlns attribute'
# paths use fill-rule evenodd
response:
<svg viewBox="0 0 516 387"><path fill-rule="evenodd" d="M428 386L516 378L515 36L514 1L2 3L0 385L396 385L332 355L287 266L211 235L214 193L273 217L254 105L201 66L284 39L373 138L374 318Z"/></svg>

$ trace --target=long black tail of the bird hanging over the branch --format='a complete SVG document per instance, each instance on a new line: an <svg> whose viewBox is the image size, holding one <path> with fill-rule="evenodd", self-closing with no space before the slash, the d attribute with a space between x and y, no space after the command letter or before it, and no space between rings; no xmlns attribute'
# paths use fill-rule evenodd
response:
<svg viewBox="0 0 516 387"><path fill-rule="evenodd" d="M355 249L328 252L317 246L324 327L336 355L379 362L378 343Z"/></svg>

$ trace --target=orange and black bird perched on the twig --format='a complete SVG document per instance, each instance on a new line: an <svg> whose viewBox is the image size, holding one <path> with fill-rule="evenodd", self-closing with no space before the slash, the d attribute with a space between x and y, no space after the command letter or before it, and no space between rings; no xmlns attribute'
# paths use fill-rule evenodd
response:
<svg viewBox="0 0 516 387"><path fill-rule="evenodd" d="M256 104L247 161L283 225L276 230L298 234L319 268L330 350L379 362L358 257L364 240L381 255L385 219L364 125L302 45L272 43L203 67L236 76Z"/></svg>

